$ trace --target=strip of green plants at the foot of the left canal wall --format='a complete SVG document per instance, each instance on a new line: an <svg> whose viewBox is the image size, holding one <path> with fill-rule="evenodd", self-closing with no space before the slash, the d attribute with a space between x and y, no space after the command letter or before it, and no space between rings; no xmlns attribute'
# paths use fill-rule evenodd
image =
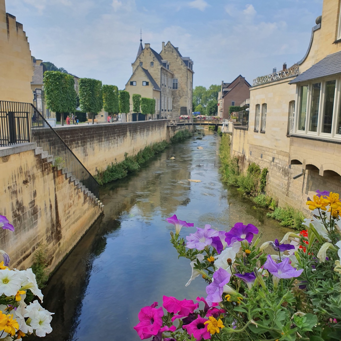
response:
<svg viewBox="0 0 341 341"><path fill-rule="evenodd" d="M162 142L156 142L145 147L134 156L128 156L127 154L125 160L118 163L112 163L111 165L108 165L106 169L97 171L97 174L94 177L100 185L122 179L126 177L128 173L139 170L142 164L155 155L160 154L170 145L183 142L191 136L193 136L193 134L189 130L180 130L170 138L170 143L163 140Z"/></svg>

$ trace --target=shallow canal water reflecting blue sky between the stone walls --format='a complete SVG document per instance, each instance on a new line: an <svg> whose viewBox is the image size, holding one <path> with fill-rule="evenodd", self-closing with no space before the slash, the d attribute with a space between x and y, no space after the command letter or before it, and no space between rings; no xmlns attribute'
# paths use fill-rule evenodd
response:
<svg viewBox="0 0 341 341"><path fill-rule="evenodd" d="M202 140L170 147L136 174L102 187L104 216L43 290L43 306L55 312L46 340L137 341L133 326L140 308L154 301L162 305L163 295L205 297L201 278L185 287L191 267L189 260L178 259L169 242L174 228L165 219L173 214L194 223L181 230L183 236L195 232L195 226L228 231L240 221L256 225L263 241L287 232L266 218L266 210L222 184L220 137L205 134Z"/></svg>

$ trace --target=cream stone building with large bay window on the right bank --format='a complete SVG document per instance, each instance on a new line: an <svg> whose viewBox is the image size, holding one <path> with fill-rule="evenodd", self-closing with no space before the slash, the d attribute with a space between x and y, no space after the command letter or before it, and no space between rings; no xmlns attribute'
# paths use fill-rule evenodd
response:
<svg viewBox="0 0 341 341"><path fill-rule="evenodd" d="M341 192L340 6L323 1L305 56L256 78L249 127L234 127L232 154L243 170L269 169L267 193L281 206L304 211L316 190Z"/></svg>

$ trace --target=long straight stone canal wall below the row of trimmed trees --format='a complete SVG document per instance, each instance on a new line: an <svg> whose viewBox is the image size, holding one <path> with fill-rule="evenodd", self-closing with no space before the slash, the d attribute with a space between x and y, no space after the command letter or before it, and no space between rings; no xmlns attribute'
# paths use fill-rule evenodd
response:
<svg viewBox="0 0 341 341"><path fill-rule="evenodd" d="M169 142L180 129L192 128L167 127L167 120L150 120L56 128L56 132L89 172L95 175L97 170L123 161L127 154L136 155L155 142Z"/></svg>

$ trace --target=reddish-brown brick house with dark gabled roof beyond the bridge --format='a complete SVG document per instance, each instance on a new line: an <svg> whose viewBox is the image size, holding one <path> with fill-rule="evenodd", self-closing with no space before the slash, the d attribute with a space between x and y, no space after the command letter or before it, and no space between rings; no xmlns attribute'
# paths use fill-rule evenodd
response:
<svg viewBox="0 0 341 341"><path fill-rule="evenodd" d="M239 75L231 83L221 82L221 88L218 93L218 116L229 118L230 106L241 106L250 98L251 85L246 79Z"/></svg>

